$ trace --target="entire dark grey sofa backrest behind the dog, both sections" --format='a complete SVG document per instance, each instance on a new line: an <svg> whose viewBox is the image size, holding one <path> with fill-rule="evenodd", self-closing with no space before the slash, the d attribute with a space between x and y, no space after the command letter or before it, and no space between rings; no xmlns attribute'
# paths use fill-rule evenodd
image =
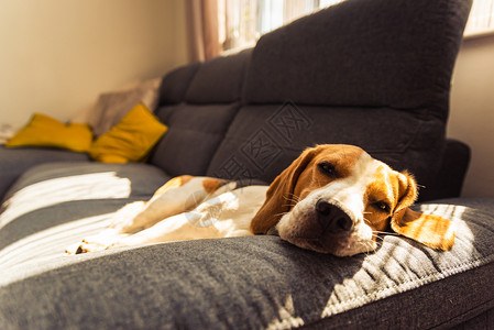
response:
<svg viewBox="0 0 494 330"><path fill-rule="evenodd" d="M182 67L164 78L171 129L151 162L270 183L307 146L348 143L428 186L470 2L348 0L253 51Z"/></svg>

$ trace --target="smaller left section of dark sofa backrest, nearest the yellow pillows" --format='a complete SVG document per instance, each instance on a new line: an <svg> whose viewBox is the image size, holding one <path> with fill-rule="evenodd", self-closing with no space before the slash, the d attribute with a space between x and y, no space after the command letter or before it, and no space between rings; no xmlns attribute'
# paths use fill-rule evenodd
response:
<svg viewBox="0 0 494 330"><path fill-rule="evenodd" d="M251 52L179 67L161 87L157 117L168 125L150 163L172 176L205 175L240 108Z"/></svg>

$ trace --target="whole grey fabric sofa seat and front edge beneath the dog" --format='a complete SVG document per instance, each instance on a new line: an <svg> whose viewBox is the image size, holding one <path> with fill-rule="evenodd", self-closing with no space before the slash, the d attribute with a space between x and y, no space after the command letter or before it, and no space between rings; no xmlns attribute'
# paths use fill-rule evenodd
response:
<svg viewBox="0 0 494 330"><path fill-rule="evenodd" d="M73 185L55 185L70 177ZM7 328L424 329L454 326L494 305L486 289L494 286L491 199L416 206L454 221L449 252L384 235L375 253L340 258L261 235L64 255L67 244L108 224L124 202L149 198L166 178L136 164L28 172L1 215L2 223L10 220L0 229ZM45 206L33 210L40 195Z"/></svg>

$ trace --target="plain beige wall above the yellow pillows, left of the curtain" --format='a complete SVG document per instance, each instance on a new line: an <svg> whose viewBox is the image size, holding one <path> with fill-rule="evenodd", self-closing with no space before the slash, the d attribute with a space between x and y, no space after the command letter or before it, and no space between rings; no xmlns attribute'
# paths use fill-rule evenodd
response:
<svg viewBox="0 0 494 330"><path fill-rule="evenodd" d="M182 0L2 0L0 124L67 120L187 61Z"/></svg>

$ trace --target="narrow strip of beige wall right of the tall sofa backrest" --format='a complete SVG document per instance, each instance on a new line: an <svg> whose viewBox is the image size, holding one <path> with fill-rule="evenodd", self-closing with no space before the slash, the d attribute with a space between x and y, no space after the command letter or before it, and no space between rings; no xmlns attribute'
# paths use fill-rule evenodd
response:
<svg viewBox="0 0 494 330"><path fill-rule="evenodd" d="M462 195L494 197L494 35L463 41L453 74L448 136L472 148Z"/></svg>

